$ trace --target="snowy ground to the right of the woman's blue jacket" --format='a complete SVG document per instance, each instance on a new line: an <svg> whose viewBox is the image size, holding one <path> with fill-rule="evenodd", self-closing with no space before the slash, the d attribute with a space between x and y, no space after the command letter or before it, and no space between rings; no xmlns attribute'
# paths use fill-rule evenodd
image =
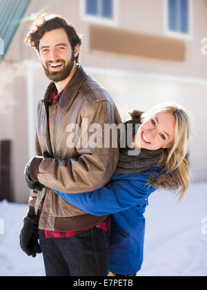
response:
<svg viewBox="0 0 207 290"><path fill-rule="evenodd" d="M144 263L137 276L207 276L207 183L192 184L180 203L172 193L155 191L145 217Z"/></svg>

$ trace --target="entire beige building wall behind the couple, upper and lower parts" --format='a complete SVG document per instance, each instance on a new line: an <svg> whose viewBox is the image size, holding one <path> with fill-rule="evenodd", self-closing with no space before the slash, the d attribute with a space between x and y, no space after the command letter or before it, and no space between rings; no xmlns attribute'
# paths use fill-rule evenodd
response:
<svg viewBox="0 0 207 290"><path fill-rule="evenodd" d="M201 54L201 39L207 37L207 1L193 3L193 37L179 39L184 43L184 61L161 61L111 52L94 51L90 47L91 26L99 28L101 23L90 23L81 14L82 0L31 1L26 16L46 8L49 13L66 17L83 34L81 64L86 71L107 88L124 118L132 108L146 110L162 101L178 101L188 108L194 121L194 138L190 145L194 181L207 180L207 56ZM121 0L117 1L117 23L113 29L124 33L135 33L136 37L168 37L164 25L165 0ZM26 202L28 189L23 181L23 168L34 153L35 108L48 85L39 57L32 48L23 45L23 39L30 26L29 21L21 23L8 49L3 64L9 77L6 85L12 106L10 115L4 114L0 138L12 139L12 179L14 200ZM105 25L105 24L104 24ZM106 26L110 28L110 26ZM107 41L107 39L106 39ZM123 39L124 43L125 39ZM110 43L109 43L110 45ZM130 46L130 43L128 43ZM18 68L18 69L17 69ZM14 102L13 102L14 100ZM32 110L33 108L33 110ZM8 126L3 126L3 124Z"/></svg>

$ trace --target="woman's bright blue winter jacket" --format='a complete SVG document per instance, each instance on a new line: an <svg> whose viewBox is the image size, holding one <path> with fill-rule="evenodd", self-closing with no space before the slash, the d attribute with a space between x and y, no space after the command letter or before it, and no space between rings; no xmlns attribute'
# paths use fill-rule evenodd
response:
<svg viewBox="0 0 207 290"><path fill-rule="evenodd" d="M141 269L144 251L148 196L155 191L146 186L149 174L161 174L162 166L135 174L116 174L101 189L89 193L60 193L66 202L92 215L112 214L108 270L120 275Z"/></svg>

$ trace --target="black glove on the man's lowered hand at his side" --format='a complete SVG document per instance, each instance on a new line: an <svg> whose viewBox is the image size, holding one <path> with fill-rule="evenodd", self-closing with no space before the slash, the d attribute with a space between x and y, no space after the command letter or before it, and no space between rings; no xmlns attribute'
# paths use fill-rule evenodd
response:
<svg viewBox="0 0 207 290"><path fill-rule="evenodd" d="M20 247L27 254L36 257L36 253L41 253L38 239L39 222L28 215L23 219L23 226L19 234Z"/></svg>

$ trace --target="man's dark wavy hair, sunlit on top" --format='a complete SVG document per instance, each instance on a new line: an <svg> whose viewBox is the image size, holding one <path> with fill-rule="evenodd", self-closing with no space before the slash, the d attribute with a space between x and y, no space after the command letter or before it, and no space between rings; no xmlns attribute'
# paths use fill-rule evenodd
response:
<svg viewBox="0 0 207 290"><path fill-rule="evenodd" d="M25 43L27 46L34 47L39 52L39 41L43 35L55 29L63 28L68 35L68 40L72 47L72 51L75 46L79 44L81 46L81 36L77 34L75 27L72 26L64 17L57 14L41 14L30 26L28 35L26 36ZM79 63L79 55L75 58Z"/></svg>

